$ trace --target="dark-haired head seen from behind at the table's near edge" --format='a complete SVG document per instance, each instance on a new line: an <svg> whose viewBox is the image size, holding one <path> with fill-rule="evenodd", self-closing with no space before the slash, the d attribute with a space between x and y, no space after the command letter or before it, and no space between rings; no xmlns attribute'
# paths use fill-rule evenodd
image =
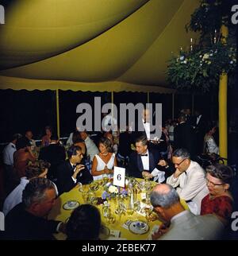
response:
<svg viewBox="0 0 238 256"><path fill-rule="evenodd" d="M98 240L101 215L98 208L82 204L76 208L66 226L67 240Z"/></svg>

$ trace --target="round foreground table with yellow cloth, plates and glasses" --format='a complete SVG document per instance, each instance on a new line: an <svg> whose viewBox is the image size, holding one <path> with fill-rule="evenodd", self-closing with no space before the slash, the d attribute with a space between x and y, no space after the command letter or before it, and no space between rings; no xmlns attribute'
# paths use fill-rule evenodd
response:
<svg viewBox="0 0 238 256"><path fill-rule="evenodd" d="M143 183L143 179L136 179L137 183ZM151 189L155 186L155 182L150 181ZM158 219L155 212L152 211L152 206L146 200L146 193L143 191L134 193L132 196L114 196L111 199L102 200L102 194L105 193L106 184L100 181L94 181L91 184L77 184L70 192L64 192L56 199L56 204L48 215L48 219L55 219L67 222L71 212L80 204L94 204L101 213L102 231L100 234L101 240L150 240L152 233L162 223ZM120 188L119 188L120 190ZM125 190L124 190L125 191ZM108 191L107 191L108 192ZM130 193L129 193L130 194ZM91 200L92 197L94 200ZM133 200L133 202L132 202ZM139 207L129 211L129 207L135 202L140 202ZM188 207L184 200L181 200L182 205L186 210ZM118 206L124 206L125 211L118 214ZM110 217L105 214L105 210L109 209ZM132 207L133 208L133 207ZM150 210L150 217L146 216L144 209ZM120 211L119 211L120 212ZM63 233L55 234L57 240L65 240L67 237Z"/></svg>

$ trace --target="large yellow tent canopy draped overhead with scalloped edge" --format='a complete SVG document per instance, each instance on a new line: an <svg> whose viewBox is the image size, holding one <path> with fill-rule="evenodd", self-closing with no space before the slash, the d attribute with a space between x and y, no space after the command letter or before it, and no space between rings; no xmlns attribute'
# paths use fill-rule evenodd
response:
<svg viewBox="0 0 238 256"><path fill-rule="evenodd" d="M174 90L171 52L190 46L198 0L21 0L0 25L0 88Z"/></svg>

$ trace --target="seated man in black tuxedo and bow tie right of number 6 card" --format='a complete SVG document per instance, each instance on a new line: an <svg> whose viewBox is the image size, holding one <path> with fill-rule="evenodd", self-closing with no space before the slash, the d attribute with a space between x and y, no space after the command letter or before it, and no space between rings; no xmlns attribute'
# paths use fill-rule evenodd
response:
<svg viewBox="0 0 238 256"><path fill-rule="evenodd" d="M129 166L126 169L129 176L143 178L144 176L152 177L151 173L156 168L166 171L164 167L159 166L160 153L154 149L148 149L148 140L145 136L136 139L136 152L130 155ZM171 173L165 172L165 176ZM164 180L164 179L163 179ZM163 182L159 180L159 182Z"/></svg>

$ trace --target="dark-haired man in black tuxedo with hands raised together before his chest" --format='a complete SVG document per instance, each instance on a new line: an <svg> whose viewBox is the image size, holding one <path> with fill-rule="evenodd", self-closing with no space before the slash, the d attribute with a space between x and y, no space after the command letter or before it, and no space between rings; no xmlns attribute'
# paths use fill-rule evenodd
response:
<svg viewBox="0 0 238 256"><path fill-rule="evenodd" d="M68 160L57 168L56 184L59 194L70 191L77 182L89 184L93 180L89 170L79 164L83 159L82 149L79 145L71 145L67 151L67 157Z"/></svg>

